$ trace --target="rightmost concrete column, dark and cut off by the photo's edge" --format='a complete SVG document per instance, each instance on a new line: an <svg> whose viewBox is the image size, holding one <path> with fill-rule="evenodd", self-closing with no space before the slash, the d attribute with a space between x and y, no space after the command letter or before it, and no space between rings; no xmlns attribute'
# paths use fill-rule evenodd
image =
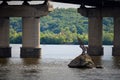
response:
<svg viewBox="0 0 120 80"><path fill-rule="evenodd" d="M114 17L113 56L120 56L120 17Z"/></svg>

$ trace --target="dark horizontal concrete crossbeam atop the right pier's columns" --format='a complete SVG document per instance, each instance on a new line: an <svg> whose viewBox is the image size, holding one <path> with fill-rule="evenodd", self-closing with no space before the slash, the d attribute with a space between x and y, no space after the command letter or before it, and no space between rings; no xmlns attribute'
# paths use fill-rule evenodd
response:
<svg viewBox="0 0 120 80"><path fill-rule="evenodd" d="M85 17L120 17L120 7L78 8L78 12Z"/></svg>

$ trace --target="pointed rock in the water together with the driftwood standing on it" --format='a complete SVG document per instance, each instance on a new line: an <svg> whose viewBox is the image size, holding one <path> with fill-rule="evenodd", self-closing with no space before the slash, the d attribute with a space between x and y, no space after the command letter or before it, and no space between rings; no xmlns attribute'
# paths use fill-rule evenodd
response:
<svg viewBox="0 0 120 80"><path fill-rule="evenodd" d="M94 62L91 57L87 54L87 48L84 46L82 40L78 38L78 43L80 44L80 48L82 49L82 54L73 59L68 66L71 68L93 68Z"/></svg>

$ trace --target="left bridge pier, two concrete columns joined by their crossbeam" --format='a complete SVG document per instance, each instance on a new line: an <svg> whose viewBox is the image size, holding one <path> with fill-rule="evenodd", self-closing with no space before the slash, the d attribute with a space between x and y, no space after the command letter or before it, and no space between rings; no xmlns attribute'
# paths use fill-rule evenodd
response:
<svg viewBox="0 0 120 80"><path fill-rule="evenodd" d="M40 48L40 17L52 10L49 5L0 5L0 57L11 57L9 17L22 17L22 47L20 57L38 58Z"/></svg>

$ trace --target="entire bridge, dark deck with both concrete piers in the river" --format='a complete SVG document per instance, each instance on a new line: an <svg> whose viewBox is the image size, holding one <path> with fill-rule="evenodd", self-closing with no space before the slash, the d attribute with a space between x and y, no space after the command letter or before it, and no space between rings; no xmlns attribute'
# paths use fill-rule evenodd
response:
<svg viewBox="0 0 120 80"><path fill-rule="evenodd" d="M2 1L2 0L1 0ZM22 17L22 47L20 57L39 57L40 48L40 21L53 7L45 0L42 4L32 5L24 0L22 5L9 5L4 0L0 4L0 57L11 57L9 46L9 17ZM15 0L14 0L15 1ZM20 0L16 0L20 1ZM39 1L39 0L38 0ZM88 17L88 54L103 55L102 47L102 18L114 18L113 56L120 56L120 1L119 0L51 0L55 2L81 5L78 12Z"/></svg>

